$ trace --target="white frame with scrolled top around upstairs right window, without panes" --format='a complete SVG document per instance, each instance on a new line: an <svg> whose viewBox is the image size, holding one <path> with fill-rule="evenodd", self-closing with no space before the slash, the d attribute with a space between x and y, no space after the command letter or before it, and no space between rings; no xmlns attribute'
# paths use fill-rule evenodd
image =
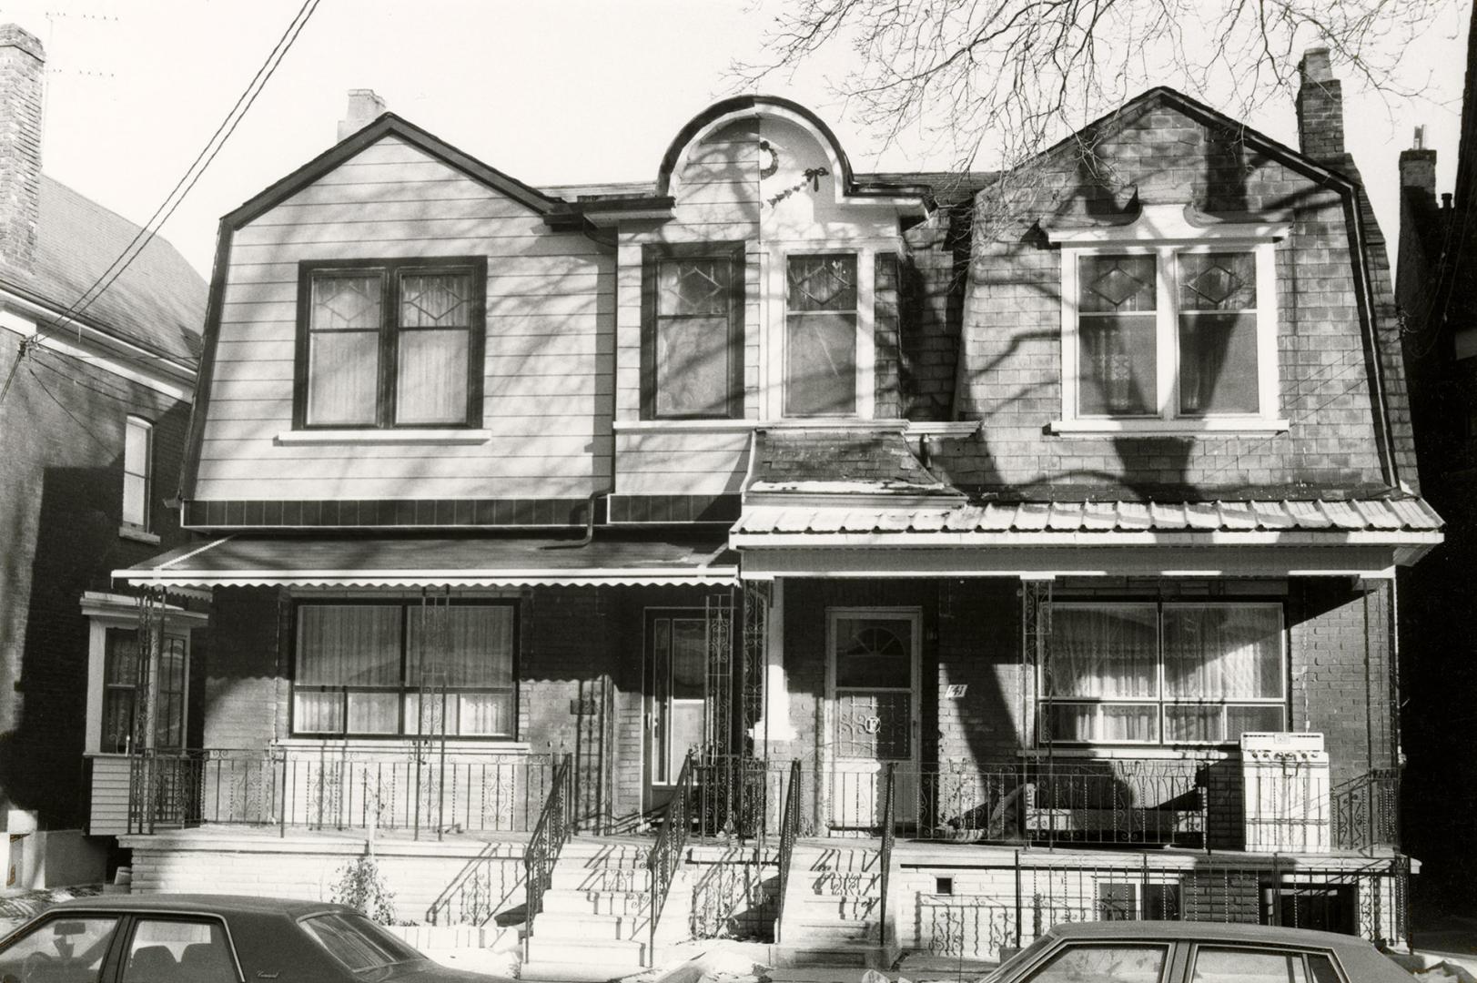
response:
<svg viewBox="0 0 1477 983"><path fill-rule="evenodd" d="M1052 229L1062 259L1062 417L1053 433L1281 433L1278 373L1276 242L1286 223L1195 220L1188 205L1145 205L1139 219L1121 226ZM1244 251L1257 269L1257 405L1254 414L1182 415L1179 386L1179 284L1176 257L1183 253ZM1156 412L1084 415L1078 412L1078 265L1086 256L1155 256Z"/></svg>

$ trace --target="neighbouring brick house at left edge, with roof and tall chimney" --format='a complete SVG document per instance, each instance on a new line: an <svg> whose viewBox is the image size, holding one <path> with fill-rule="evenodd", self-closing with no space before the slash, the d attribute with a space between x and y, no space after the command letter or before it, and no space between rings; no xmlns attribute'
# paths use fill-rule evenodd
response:
<svg viewBox="0 0 1477 983"><path fill-rule="evenodd" d="M35 37L0 28L0 859L15 885L99 880L84 767L134 738L201 733L182 701L160 735L134 718L120 684L139 600L111 574L189 538L164 503L205 282L155 238L93 290L140 229L41 171L44 64ZM183 689L195 621L174 613L162 658Z"/></svg>

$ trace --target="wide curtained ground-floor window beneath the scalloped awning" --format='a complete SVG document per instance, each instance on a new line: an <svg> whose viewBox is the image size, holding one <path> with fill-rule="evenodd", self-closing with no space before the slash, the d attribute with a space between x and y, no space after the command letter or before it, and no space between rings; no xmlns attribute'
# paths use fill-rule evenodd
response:
<svg viewBox="0 0 1477 983"><path fill-rule="evenodd" d="M292 732L517 732L517 610L508 603L303 603Z"/></svg>

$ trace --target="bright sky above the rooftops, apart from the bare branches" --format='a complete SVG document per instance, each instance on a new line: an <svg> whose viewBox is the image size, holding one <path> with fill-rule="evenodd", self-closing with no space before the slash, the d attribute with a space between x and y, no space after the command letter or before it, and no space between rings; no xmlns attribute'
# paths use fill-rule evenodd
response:
<svg viewBox="0 0 1477 983"><path fill-rule="evenodd" d="M241 126L164 226L210 273L217 222L332 145L350 89L538 186L651 180L693 115L731 95L781 0L321 0ZM43 170L145 223L207 143L291 22L300 0L0 0L0 22L47 49ZM1446 0L1406 52L1415 99L1344 81L1349 149L1381 228L1397 223L1397 157L1425 124L1437 189L1455 177L1465 0ZM857 170L925 170L907 135L876 148L829 89L845 52L771 95L815 109ZM1145 89L1165 80L1146 80ZM1214 102L1214 99L1211 99ZM1247 120L1297 143L1291 99Z"/></svg>

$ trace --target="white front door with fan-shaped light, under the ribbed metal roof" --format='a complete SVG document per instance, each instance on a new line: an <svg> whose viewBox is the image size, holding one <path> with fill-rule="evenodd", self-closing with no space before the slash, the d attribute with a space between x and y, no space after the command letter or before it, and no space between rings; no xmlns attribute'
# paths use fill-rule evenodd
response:
<svg viewBox="0 0 1477 983"><path fill-rule="evenodd" d="M873 829L882 823L889 764L897 775L894 819L916 823L919 612L833 608L827 613L830 825Z"/></svg>

